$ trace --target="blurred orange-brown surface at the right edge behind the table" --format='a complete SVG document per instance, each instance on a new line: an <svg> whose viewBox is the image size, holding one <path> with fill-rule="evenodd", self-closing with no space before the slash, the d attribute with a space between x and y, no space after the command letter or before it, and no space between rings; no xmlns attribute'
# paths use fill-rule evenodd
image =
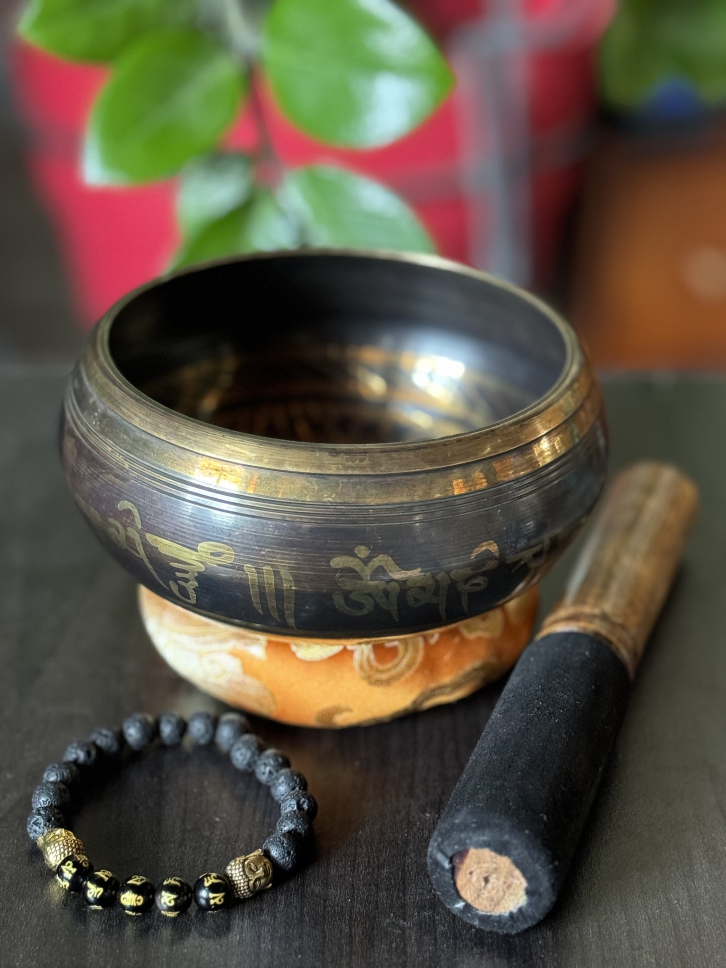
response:
<svg viewBox="0 0 726 968"><path fill-rule="evenodd" d="M570 317L596 366L726 368L726 128L609 138L580 228Z"/></svg>

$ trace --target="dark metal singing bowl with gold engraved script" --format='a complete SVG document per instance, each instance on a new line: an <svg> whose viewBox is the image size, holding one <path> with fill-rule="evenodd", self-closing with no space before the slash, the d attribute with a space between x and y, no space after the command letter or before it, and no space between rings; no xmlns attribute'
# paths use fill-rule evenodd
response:
<svg viewBox="0 0 726 968"><path fill-rule="evenodd" d="M238 257L136 289L65 399L81 511L150 590L260 632L408 635L537 581L605 476L573 330L438 257Z"/></svg>

